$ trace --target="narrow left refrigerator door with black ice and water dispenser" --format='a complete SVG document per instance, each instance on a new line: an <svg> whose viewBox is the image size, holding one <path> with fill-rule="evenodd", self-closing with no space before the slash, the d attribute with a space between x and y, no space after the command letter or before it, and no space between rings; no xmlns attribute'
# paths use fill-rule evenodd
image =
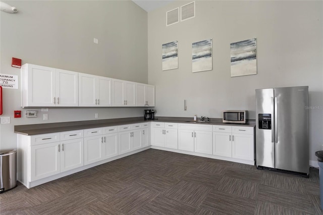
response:
<svg viewBox="0 0 323 215"><path fill-rule="evenodd" d="M272 129L259 129L259 114L270 114ZM274 89L256 89L256 165L275 168ZM261 126L260 126L261 128Z"/></svg>

